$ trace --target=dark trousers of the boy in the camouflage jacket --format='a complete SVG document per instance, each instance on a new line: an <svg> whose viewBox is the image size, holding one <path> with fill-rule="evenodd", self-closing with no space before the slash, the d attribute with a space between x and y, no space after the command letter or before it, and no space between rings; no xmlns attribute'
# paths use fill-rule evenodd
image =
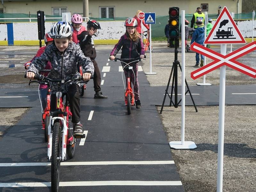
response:
<svg viewBox="0 0 256 192"><path fill-rule="evenodd" d="M66 99L69 102L70 110L72 113L72 123L78 123L80 121L79 89L80 87L77 84L71 84L68 87L68 95L66 95ZM56 94L52 94L51 95L51 111L55 111L55 110L56 110Z"/></svg>

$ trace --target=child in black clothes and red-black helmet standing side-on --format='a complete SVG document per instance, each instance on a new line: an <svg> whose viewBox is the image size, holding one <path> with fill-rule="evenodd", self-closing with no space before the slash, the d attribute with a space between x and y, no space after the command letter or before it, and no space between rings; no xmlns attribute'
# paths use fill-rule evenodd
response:
<svg viewBox="0 0 256 192"><path fill-rule="evenodd" d="M100 28L100 23L95 20L89 20L87 22L87 31L83 31L81 34L77 36L79 45L86 57L89 57L93 62L94 66L94 76L93 76L93 84L94 84L94 99L106 99L107 95L103 95L100 88L101 78L100 78L100 69L98 67L96 58L96 50L94 47L94 41L92 35L97 33L97 29Z"/></svg>

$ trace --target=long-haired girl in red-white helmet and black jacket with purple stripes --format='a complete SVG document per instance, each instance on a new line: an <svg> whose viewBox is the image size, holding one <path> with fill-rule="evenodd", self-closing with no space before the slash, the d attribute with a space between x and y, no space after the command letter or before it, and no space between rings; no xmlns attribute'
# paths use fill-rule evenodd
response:
<svg viewBox="0 0 256 192"><path fill-rule="evenodd" d="M144 59L144 46L140 35L136 31L138 23L137 20L129 17L125 20L124 26L126 27L126 32L121 36L118 43L115 45L114 49L110 53L110 59L114 60L116 54L122 47L121 60L126 63L136 60L137 58ZM141 108L140 94L139 94L139 82L138 82L138 62L132 63L134 74L131 73L131 81L133 84L133 91L135 94L136 108ZM125 77L127 79L128 72L124 71ZM127 86L127 82L126 82Z"/></svg>

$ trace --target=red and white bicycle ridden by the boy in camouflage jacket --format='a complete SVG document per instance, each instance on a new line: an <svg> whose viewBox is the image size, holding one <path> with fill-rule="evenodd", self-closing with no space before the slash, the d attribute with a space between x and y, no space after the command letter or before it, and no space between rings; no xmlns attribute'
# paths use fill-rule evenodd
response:
<svg viewBox="0 0 256 192"><path fill-rule="evenodd" d="M93 78L93 76L91 76ZM56 93L56 110L50 112L50 124L48 126L48 159L51 163L51 185L52 191L57 192L60 181L60 162L67 159L66 155L71 159L75 156L76 139L73 136L72 113L69 108L68 99L64 100L64 96L68 97L66 84L86 83L82 81L80 73L75 77L68 79L50 79L41 74L37 74L34 79L40 83L49 84L49 89ZM53 86L53 83L57 83ZM55 87L57 86L57 89ZM64 104L65 103L65 104ZM85 134L80 137L85 138Z"/></svg>

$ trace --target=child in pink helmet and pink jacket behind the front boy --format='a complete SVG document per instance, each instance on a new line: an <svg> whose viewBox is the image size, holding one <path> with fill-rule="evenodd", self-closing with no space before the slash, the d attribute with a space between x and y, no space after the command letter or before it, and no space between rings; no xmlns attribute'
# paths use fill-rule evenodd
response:
<svg viewBox="0 0 256 192"><path fill-rule="evenodd" d="M71 16L71 22L72 22L72 27L73 27L73 35L72 35L72 38L73 38L73 42L75 44L78 44L79 41L77 39L77 36L79 34L81 34L83 31L86 31L86 28L82 25L83 23L83 18L81 15L79 14L74 14Z"/></svg>

